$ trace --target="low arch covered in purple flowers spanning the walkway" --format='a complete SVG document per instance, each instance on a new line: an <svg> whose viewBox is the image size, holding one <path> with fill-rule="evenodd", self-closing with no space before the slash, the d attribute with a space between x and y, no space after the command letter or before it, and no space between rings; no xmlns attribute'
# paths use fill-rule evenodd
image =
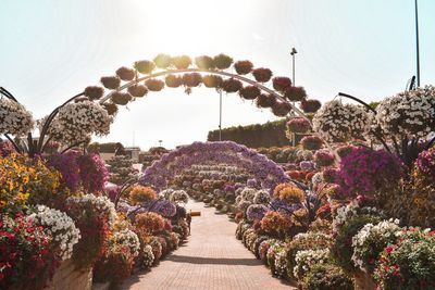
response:
<svg viewBox="0 0 435 290"><path fill-rule="evenodd" d="M161 189L183 169L210 161L243 167L261 181L263 187L271 189L290 180L284 169L266 156L246 146L222 141L194 142L164 154L145 171L139 184L148 184Z"/></svg>

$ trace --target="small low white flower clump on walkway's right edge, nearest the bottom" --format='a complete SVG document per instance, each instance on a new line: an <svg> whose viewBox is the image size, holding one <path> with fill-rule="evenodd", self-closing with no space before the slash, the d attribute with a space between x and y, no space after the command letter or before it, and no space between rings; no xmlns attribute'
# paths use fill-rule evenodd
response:
<svg viewBox="0 0 435 290"><path fill-rule="evenodd" d="M293 274L301 280L312 266L327 263L328 257L330 249L298 251Z"/></svg>

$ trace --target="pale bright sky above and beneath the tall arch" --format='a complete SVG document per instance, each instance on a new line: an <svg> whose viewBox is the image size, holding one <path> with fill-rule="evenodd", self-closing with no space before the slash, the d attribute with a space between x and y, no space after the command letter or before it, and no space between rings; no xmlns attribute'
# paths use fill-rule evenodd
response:
<svg viewBox="0 0 435 290"><path fill-rule="evenodd" d="M251 60L327 101L338 91L380 100L415 74L413 0L1 0L0 86L35 117L158 53ZM421 79L435 84L435 1L420 0ZM224 96L223 126L273 121ZM111 134L147 149L206 140L219 125L214 90L165 89L119 113ZM135 136L135 137L134 137Z"/></svg>

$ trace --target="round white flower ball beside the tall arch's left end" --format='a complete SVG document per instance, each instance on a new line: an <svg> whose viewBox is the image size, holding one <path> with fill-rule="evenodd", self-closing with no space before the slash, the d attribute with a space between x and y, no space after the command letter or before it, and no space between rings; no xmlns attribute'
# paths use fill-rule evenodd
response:
<svg viewBox="0 0 435 290"><path fill-rule="evenodd" d="M40 122L44 125L46 119ZM99 103L82 101L67 103L50 124L49 135L64 144L84 141L92 134L108 135L113 117Z"/></svg>

